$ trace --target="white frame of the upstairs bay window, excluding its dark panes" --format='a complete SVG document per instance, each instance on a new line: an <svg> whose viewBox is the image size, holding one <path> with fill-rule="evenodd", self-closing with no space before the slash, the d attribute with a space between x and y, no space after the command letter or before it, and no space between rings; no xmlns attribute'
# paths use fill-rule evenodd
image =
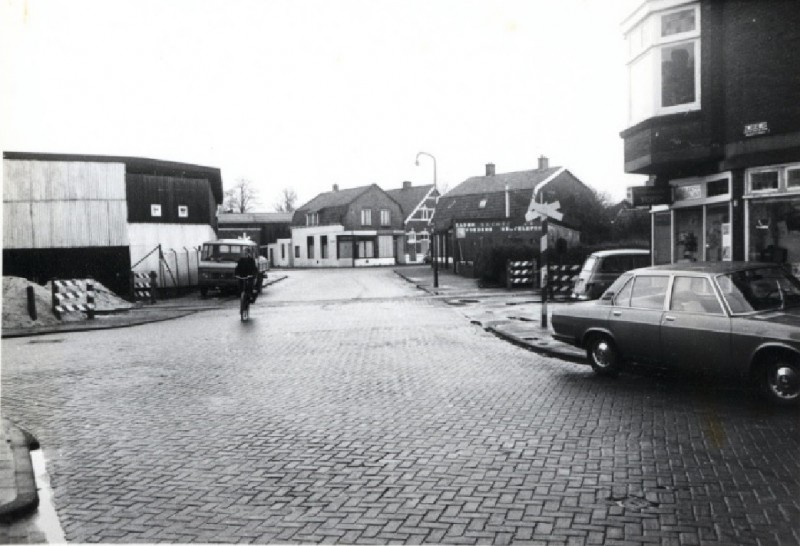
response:
<svg viewBox="0 0 800 546"><path fill-rule="evenodd" d="M656 116L664 116L681 112L690 112L701 108L701 58L702 58L702 20L699 2L668 2L667 5L674 4L672 7L661 11L644 10L638 14L638 19L633 23L628 23L625 37L628 42L628 121L630 125L635 125L645 119ZM661 19L687 9L694 10L695 28L694 30L661 36ZM634 40L638 39L640 45L634 48ZM662 74L661 74L661 51L668 47L681 45L684 43L694 44L694 91L695 99L693 102L677 104L674 106L662 106ZM652 82L652 97L650 107L646 112L634 116L632 111L633 101L631 98L636 93L632 88L631 71L637 62L649 63L650 81ZM648 68L648 67L645 67Z"/></svg>

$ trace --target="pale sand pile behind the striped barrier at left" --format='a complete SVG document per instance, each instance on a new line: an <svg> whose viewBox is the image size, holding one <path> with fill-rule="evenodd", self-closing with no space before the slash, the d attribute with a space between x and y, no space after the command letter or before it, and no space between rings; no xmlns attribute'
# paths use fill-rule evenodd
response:
<svg viewBox="0 0 800 546"><path fill-rule="evenodd" d="M85 288L86 281L79 281L81 288ZM114 295L108 288L97 281L94 285L95 309L99 312L109 312L133 307L130 303ZM28 314L27 288L33 287L34 301L36 302L36 320L31 320ZM86 320L86 313L65 313L62 320L53 314L51 284L45 286L36 284L21 277L3 277L3 328L30 328L31 326L48 326L60 322L74 322ZM80 303L84 303L81 301Z"/></svg>

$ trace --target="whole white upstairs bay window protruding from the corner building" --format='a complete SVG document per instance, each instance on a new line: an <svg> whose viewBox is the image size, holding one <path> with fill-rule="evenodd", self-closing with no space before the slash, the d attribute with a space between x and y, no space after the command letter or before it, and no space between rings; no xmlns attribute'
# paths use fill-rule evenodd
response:
<svg viewBox="0 0 800 546"><path fill-rule="evenodd" d="M700 109L700 8L656 11L645 1L625 22L629 121Z"/></svg>

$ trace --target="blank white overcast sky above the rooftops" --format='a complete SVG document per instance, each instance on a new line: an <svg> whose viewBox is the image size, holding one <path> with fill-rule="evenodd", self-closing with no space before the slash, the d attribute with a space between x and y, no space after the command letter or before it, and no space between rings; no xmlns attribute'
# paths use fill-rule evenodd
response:
<svg viewBox="0 0 800 546"><path fill-rule="evenodd" d="M546 155L614 200L628 0L0 0L0 145L219 167L259 211Z"/></svg>

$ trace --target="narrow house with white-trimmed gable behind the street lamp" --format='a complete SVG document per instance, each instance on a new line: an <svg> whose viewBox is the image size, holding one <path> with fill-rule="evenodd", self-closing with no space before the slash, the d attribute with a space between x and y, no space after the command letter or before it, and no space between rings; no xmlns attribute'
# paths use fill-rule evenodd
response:
<svg viewBox="0 0 800 546"><path fill-rule="evenodd" d="M412 186L406 181L402 188L386 193L400 204L403 213L405 237L397 256L398 262L423 263L430 248L430 221L436 210L439 190L433 184Z"/></svg>

